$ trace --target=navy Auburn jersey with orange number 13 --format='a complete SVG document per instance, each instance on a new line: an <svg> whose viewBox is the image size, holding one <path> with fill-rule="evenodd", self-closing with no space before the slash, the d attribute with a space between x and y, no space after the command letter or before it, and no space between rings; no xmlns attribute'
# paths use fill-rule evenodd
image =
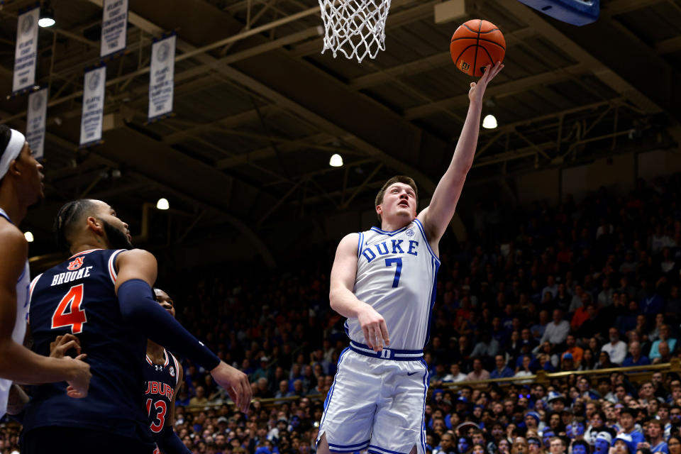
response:
<svg viewBox="0 0 681 454"><path fill-rule="evenodd" d="M165 361L154 364L147 356L144 364L144 402L147 405L149 424L153 434L160 433L166 424L172 408L172 397L177 388L177 360L168 350L163 349ZM172 430L172 422L170 423Z"/></svg>

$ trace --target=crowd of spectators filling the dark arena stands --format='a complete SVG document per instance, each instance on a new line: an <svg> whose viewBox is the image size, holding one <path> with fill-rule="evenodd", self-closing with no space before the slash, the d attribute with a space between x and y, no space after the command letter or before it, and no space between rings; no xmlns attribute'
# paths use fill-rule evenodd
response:
<svg viewBox="0 0 681 454"><path fill-rule="evenodd" d="M424 353L432 454L603 454L604 441L617 454L681 454L675 373L640 384L621 373L597 382L582 375L677 356L680 192L673 176L639 180L623 197L602 188L579 202L567 196L558 206L513 212L481 203L464 216L467 238L445 236ZM235 413L210 375L184 362L175 429L195 453L314 453L323 400L348 343L343 319L328 306L334 247L289 271L166 278L184 326L248 373L256 398L274 399ZM575 373L547 386L465 383L538 370ZM13 437L0 428L0 453L11 452Z"/></svg>

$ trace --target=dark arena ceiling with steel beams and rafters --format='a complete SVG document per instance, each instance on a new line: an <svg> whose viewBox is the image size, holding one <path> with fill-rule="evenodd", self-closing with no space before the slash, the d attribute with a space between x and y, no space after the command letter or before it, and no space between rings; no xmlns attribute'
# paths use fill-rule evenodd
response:
<svg viewBox="0 0 681 454"><path fill-rule="evenodd" d="M466 1L465 17L436 24L438 3L392 0L386 50L359 65L320 54L317 0L130 0L126 54L108 62L104 143L78 150L101 0L52 0L57 26L40 30L38 59L50 86L47 199L26 221L39 233L32 252L53 250L51 219L74 197L109 201L153 248L238 233L234 245L270 264L295 240L325 236L314 216L366 210L395 173L427 198L466 114L472 79L448 43L470 18L499 26L508 48L483 112L499 128L482 130L467 184L512 193L508 179L523 172L681 142L681 1L602 0L599 21L580 28L516 0ZM3 94L16 16L32 4L0 11ZM150 44L167 31L178 37L175 116L148 124ZM0 122L23 129L26 97L1 106ZM329 167L333 153L343 167ZM149 209L160 196L170 214Z"/></svg>

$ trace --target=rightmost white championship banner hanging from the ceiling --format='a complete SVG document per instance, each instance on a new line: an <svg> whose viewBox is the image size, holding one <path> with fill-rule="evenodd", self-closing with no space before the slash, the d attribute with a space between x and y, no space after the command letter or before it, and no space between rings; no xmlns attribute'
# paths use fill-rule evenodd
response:
<svg viewBox="0 0 681 454"><path fill-rule="evenodd" d="M149 71L149 119L172 112L175 35L153 43Z"/></svg>

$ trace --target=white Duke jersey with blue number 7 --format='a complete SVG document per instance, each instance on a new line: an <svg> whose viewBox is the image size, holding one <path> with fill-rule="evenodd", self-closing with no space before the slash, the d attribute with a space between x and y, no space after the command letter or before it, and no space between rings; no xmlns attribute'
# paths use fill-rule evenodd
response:
<svg viewBox="0 0 681 454"><path fill-rule="evenodd" d="M394 232L360 232L355 296L370 304L388 328L390 349L423 350L431 329L440 260L414 219ZM345 321L351 341L365 344L358 319Z"/></svg>

